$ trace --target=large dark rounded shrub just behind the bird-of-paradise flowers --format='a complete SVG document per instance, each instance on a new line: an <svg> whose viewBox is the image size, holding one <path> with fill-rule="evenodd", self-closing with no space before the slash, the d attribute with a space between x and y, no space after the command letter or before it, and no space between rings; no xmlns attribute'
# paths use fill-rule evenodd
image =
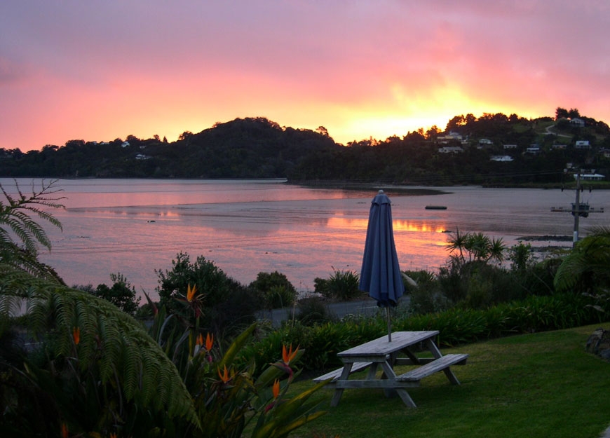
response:
<svg viewBox="0 0 610 438"><path fill-rule="evenodd" d="M189 255L180 252L172 260L171 270L156 273L160 304L170 313L177 313L191 323L201 314L201 326L219 336L238 333L254 321L258 308L254 294L203 256L191 263ZM196 313L187 312L180 303L186 299L189 285L194 285L200 294Z"/></svg>

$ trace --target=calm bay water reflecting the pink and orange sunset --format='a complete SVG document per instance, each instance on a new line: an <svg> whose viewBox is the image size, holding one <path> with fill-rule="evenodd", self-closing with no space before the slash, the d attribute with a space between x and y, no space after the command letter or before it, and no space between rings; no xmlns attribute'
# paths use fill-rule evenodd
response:
<svg viewBox="0 0 610 438"><path fill-rule="evenodd" d="M12 179L0 184L7 191L15 186ZM31 179L18 184L23 192L32 191ZM34 188L39 186L34 181ZM358 272L370 200L377 193L306 189L276 180L60 179L55 186L67 207L53 212L63 231L46 227L53 249L41 259L69 285L109 285L110 273L120 272L138 291L153 296L155 271L170 269L181 251L191 261L205 256L245 285L259 272L280 271L297 289L313 290L313 280L327 278L333 269ZM458 228L503 238L508 245L530 235L572 235L574 217L550 207L569 208L574 192L435 189L444 193L386 191L402 270L438 269L447 260L447 232ZM610 206L610 191L585 191L581 197L596 209ZM426 205L447 210L426 210ZM609 213L581 218L581 236L608 224Z"/></svg>

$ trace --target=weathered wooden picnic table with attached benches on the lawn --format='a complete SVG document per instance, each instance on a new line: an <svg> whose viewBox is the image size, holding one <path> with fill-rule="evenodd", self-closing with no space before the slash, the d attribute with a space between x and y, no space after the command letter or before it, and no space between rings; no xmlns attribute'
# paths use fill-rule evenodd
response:
<svg viewBox="0 0 610 438"><path fill-rule="evenodd" d="M381 388L395 390L402 402L409 407L416 407L406 388L419 386L422 378L438 371L443 371L451 383L459 385L459 380L449 367L464 365L468 359L467 354L442 355L434 342L436 336L438 336L438 330L395 331L392 333L392 341L388 341L387 335L381 336L381 338L337 353L344 366L317 377L313 381L330 380L328 385L330 388L334 388L331 406L339 404L341 395L346 389ZM432 353L433 357L415 355L414 347L422 344ZM407 357L399 357L399 354ZM397 376L394 371L395 365L415 365L416 367ZM381 376L377 376L379 367L383 371ZM356 371L367 368L365 378L349 378Z"/></svg>

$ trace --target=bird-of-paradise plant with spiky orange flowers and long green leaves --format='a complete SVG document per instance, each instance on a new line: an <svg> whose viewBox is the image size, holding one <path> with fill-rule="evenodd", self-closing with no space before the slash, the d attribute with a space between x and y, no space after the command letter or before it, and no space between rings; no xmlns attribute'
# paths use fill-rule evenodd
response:
<svg viewBox="0 0 610 438"><path fill-rule="evenodd" d="M173 329L169 336L163 334L173 317L161 308L150 333L177 365L191 393L199 423L204 426L192 430L188 423L174 419L171 429L177 436L284 437L323 414L311 399L323 385L315 385L294 397L286 394L298 375L294 364L301 359L302 349L295 348L294 357L290 357L292 345L279 342L269 348L269 360L257 364L243 357L256 334L256 324L223 348L210 332L205 334L204 341L198 323L194 327L180 324L182 331ZM282 360L277 360L280 352Z"/></svg>

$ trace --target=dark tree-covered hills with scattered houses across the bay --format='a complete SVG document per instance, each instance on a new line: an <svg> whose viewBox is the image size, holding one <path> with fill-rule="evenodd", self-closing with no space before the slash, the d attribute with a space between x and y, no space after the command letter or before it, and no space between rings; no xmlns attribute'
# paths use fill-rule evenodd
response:
<svg viewBox="0 0 610 438"><path fill-rule="evenodd" d="M604 122L557 108L555 117L455 116L383 141L337 144L321 127L280 127L236 118L176 142L158 136L125 141L70 140L22 153L0 149L3 177L276 178L400 184L561 182L567 163L608 174L610 130Z"/></svg>

